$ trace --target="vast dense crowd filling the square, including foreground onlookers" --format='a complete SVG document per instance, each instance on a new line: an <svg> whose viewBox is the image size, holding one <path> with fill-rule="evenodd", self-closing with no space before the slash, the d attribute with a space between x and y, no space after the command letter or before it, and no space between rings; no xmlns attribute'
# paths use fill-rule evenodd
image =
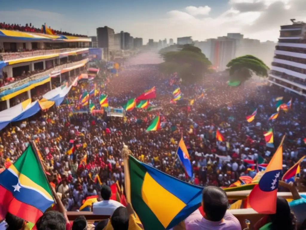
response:
<svg viewBox="0 0 306 230"><path fill-rule="evenodd" d="M59 220L62 220L64 227L53 229L65 229L65 210L79 209L88 196L103 197L102 191L108 190L105 186L110 186L117 180L124 183L121 156L123 144L128 145L140 161L181 180L206 187L203 190L205 219L199 216L199 213L193 213L185 220L185 229L192 230L241 229L237 219L226 212L226 194L217 187L227 187L239 176L252 173L247 170L245 159L256 162L262 157L269 162L275 148L266 146L264 131L273 128L276 147L281 137L286 134L283 145L284 171L306 153L303 142L306 133L303 125L306 124L306 103L304 98L298 95L253 81L246 82L243 86L230 87L226 84L226 74L219 73L206 76L203 82L196 85L185 86L181 85L179 76L163 75L154 65L125 67L118 77L106 73L110 80L104 82L101 80L102 75L105 75L103 71L94 80L82 81L72 87L61 106L41 112L21 123L14 123L1 131L0 167L16 160L32 140L43 155L43 163L55 192L61 194L60 198L57 197L57 205L62 204L63 207L59 210L62 210L63 216L47 212L37 224L37 229L47 229L47 224L55 218L57 223L52 223L61 224ZM153 86L156 87L157 95L150 102L153 109L133 109L127 111L123 118L80 113L82 108L78 104L79 96L85 90L91 91L95 86L100 94L108 95L108 103L113 107L123 105L128 99L136 98ZM188 102L196 99L193 105L170 103L172 92L177 87L180 87L183 98L188 99ZM287 113L281 112L276 120L269 121L269 117L276 110L274 99L279 96L283 96L284 101L293 98L292 109ZM99 95L91 97L91 102L95 104L96 109L100 108ZM258 109L255 121L248 123L245 117L255 109ZM162 129L146 132L157 114L161 116ZM217 128L225 137L225 142L216 142ZM190 155L193 178L188 178L179 160L174 159L181 136ZM74 153L69 155L66 153L71 140L75 148ZM99 175L104 185L92 180L96 175ZM302 162L301 182L298 187L300 191L304 189L304 175L305 163ZM283 189L288 189L288 186L284 187ZM104 197L103 200L105 199ZM288 209L286 202L279 199L280 211L270 218L272 223L279 218L278 215L282 215L285 216L282 223L287 221L286 226L290 225L288 223L292 219L285 213ZM219 211L214 211L217 209ZM129 212L129 207L114 210L111 218L113 229L128 229L122 226L129 226L129 222L133 221ZM86 224L84 218L78 221L79 224L82 221ZM124 222L125 225L116 225L116 221ZM15 220L14 222L17 223ZM103 223L99 224L102 226ZM85 229L73 228L73 225L72 229ZM176 229L184 228L177 226ZM295 228L290 226L285 229Z"/></svg>

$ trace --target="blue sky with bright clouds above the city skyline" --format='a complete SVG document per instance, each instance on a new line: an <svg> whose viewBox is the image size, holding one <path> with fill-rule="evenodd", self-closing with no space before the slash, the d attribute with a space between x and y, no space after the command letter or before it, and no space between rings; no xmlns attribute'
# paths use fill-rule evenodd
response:
<svg viewBox="0 0 306 230"><path fill-rule="evenodd" d="M280 25L306 22L306 0L11 0L3 1L0 22L32 23L70 33L96 35L108 26L155 41L192 36L193 40L242 33L277 41Z"/></svg>

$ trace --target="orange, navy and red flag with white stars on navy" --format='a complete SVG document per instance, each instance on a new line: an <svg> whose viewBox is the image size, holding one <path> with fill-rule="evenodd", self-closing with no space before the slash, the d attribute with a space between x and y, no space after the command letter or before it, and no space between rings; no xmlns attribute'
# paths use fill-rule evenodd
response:
<svg viewBox="0 0 306 230"><path fill-rule="evenodd" d="M283 168L283 140L284 137L268 164L265 173L260 178L258 185L253 188L249 195L250 205L258 213L276 213L278 180Z"/></svg>

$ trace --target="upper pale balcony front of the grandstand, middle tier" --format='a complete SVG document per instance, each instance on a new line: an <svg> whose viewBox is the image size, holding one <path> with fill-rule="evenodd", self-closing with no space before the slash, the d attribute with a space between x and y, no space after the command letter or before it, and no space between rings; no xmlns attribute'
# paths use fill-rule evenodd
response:
<svg viewBox="0 0 306 230"><path fill-rule="evenodd" d="M69 52L82 52L88 50L88 48L64 48L64 49L51 49L51 50L35 50L26 52L13 52L13 53L0 53L0 61L10 61L15 59L22 59L35 56L44 56L50 54L62 54Z"/></svg>

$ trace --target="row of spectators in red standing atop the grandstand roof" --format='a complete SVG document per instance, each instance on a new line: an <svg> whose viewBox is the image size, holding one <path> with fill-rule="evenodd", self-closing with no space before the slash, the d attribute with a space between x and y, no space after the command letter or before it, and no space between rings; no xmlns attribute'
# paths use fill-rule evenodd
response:
<svg viewBox="0 0 306 230"><path fill-rule="evenodd" d="M34 25L32 25L32 23L30 23L30 24L27 23L25 25L21 25L21 24L18 25L18 24L6 24L5 22L3 22L3 23L0 22L0 29L18 30L18 31L22 31L22 32L31 32L31 33L42 33L41 27L35 28ZM54 29L53 29L53 31L57 35L88 37L86 35L62 32L62 31L54 30Z"/></svg>

